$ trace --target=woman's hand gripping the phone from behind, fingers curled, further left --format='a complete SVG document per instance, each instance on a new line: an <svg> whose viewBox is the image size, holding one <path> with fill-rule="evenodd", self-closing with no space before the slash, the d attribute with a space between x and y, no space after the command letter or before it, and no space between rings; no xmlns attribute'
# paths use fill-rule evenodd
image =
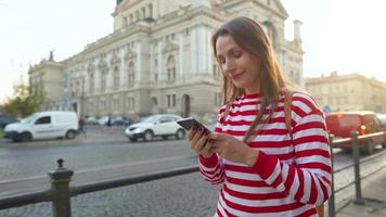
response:
<svg viewBox="0 0 386 217"><path fill-rule="evenodd" d="M188 131L188 139L191 149L205 158L210 157L215 152L209 142L210 132L201 127L192 127Z"/></svg>

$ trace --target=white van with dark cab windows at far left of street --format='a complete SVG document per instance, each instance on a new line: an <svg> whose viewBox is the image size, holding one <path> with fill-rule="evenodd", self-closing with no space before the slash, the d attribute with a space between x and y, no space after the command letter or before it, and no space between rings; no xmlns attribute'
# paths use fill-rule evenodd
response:
<svg viewBox="0 0 386 217"><path fill-rule="evenodd" d="M49 111L7 125L4 135L13 141L24 142L33 139L74 139L77 130L78 115L75 112Z"/></svg>

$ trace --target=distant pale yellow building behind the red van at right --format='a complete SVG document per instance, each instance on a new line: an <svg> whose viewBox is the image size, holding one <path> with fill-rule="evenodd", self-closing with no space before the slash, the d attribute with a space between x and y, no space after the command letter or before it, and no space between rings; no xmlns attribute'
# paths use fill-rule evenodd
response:
<svg viewBox="0 0 386 217"><path fill-rule="evenodd" d="M306 78L306 88L325 110L386 112L386 84L360 74Z"/></svg>

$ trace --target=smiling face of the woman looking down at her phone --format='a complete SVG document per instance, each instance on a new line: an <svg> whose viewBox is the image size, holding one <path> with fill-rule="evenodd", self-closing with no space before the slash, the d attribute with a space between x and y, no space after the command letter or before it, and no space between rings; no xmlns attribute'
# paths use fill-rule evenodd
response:
<svg viewBox="0 0 386 217"><path fill-rule="evenodd" d="M226 77L246 93L259 92L260 59L240 48L230 35L217 38L216 51L216 58Z"/></svg>

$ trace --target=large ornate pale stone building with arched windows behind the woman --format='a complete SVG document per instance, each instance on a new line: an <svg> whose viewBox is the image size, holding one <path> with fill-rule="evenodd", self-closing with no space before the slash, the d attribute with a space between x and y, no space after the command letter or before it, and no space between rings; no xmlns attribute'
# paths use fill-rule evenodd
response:
<svg viewBox="0 0 386 217"><path fill-rule="evenodd" d="M66 79L52 108L66 104L83 115L133 119L154 113L208 118L221 104L210 37L240 15L262 24L286 77L304 86L301 22L294 22L287 41L288 15L279 0L118 0L112 15L112 34L57 63Z"/></svg>

